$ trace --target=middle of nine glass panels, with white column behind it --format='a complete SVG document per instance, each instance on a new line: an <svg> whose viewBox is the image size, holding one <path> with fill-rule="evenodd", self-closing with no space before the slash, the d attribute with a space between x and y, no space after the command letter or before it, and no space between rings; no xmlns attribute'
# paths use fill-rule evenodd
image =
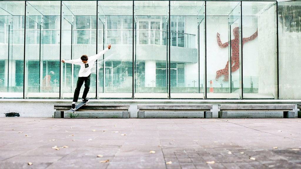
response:
<svg viewBox="0 0 301 169"><path fill-rule="evenodd" d="M168 98L168 1L135 1L135 98Z"/></svg>

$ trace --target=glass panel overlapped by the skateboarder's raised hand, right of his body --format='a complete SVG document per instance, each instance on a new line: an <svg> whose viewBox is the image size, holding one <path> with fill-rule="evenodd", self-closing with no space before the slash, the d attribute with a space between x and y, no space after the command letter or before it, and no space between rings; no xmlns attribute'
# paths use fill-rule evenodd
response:
<svg viewBox="0 0 301 169"><path fill-rule="evenodd" d="M132 98L133 2L98 1L98 29L98 98Z"/></svg>

